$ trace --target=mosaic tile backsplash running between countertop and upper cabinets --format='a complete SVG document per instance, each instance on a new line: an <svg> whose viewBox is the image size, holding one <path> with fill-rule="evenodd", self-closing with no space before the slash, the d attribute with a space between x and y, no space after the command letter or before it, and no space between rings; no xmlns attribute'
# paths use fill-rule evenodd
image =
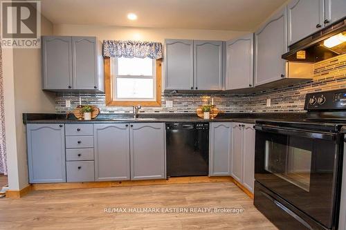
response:
<svg viewBox="0 0 346 230"><path fill-rule="evenodd" d="M304 99L307 93L346 88L346 54L320 61L314 66L311 82L273 88L248 95L215 94L214 102L224 113L287 113L304 112ZM203 104L203 96L196 94L163 94L161 107L145 107L140 113L195 113L197 106ZM55 111L66 113L82 104L98 106L101 113L132 113L131 107L109 107L105 105L104 94L57 93ZM271 99L271 106L266 107L266 99ZM66 107L66 100L71 100L71 107ZM167 108L166 101L173 101L173 107Z"/></svg>

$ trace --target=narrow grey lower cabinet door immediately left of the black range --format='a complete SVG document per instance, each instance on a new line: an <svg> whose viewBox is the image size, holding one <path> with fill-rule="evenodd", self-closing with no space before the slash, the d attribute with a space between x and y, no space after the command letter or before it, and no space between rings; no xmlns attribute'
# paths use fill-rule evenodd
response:
<svg viewBox="0 0 346 230"><path fill-rule="evenodd" d="M255 128L245 124L243 138L242 184L253 193L255 183Z"/></svg>

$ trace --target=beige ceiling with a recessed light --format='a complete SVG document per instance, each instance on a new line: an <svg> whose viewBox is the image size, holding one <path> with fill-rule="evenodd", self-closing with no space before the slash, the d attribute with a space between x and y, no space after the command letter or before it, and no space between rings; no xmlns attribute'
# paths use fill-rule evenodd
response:
<svg viewBox="0 0 346 230"><path fill-rule="evenodd" d="M251 31L285 1L42 0L42 13L57 24Z"/></svg>

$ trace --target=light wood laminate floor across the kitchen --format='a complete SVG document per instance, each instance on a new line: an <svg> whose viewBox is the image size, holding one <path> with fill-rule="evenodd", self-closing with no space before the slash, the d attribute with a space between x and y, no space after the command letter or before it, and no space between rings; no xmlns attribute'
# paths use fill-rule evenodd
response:
<svg viewBox="0 0 346 230"><path fill-rule="evenodd" d="M105 213L107 207L242 208L243 213ZM31 191L0 199L0 229L276 229L232 182Z"/></svg>

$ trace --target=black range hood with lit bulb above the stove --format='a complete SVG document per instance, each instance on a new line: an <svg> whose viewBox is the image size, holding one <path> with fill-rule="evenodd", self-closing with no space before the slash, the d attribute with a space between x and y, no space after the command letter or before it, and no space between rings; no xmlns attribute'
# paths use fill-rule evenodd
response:
<svg viewBox="0 0 346 230"><path fill-rule="evenodd" d="M289 46L288 61L315 63L346 52L346 18Z"/></svg>

